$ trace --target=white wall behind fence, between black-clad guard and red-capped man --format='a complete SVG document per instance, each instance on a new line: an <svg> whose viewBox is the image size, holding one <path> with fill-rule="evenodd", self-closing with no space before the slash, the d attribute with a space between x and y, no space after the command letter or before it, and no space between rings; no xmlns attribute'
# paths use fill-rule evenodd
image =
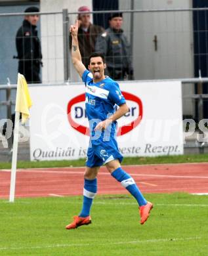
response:
<svg viewBox="0 0 208 256"><path fill-rule="evenodd" d="M87 5L92 9L92 0L41 0L41 12L77 12L77 9ZM70 24L75 15L70 16ZM41 45L43 53L43 83L64 81L64 43L62 14L47 14L41 16Z"/></svg>

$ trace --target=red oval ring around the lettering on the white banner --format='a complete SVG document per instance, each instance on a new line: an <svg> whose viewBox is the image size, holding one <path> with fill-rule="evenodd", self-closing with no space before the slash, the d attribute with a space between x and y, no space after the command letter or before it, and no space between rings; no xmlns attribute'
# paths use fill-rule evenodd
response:
<svg viewBox="0 0 208 256"><path fill-rule="evenodd" d="M126 100L130 100L131 102L136 103L136 106L138 107L138 114L136 115L136 119L134 119L133 121L127 123L126 125L118 127L117 136L125 135L126 133L129 133L130 131L135 129L135 127L138 126L138 124L142 120L142 116L143 116L142 100L140 100L138 96L135 96L131 93L122 91L122 94ZM73 105L79 102L80 103L85 102L85 93L75 96L75 98L72 98L72 100L68 102L68 107L67 107L68 121L70 122L70 125L73 127L73 129L75 129L76 131L79 131L79 133L83 133L83 135L89 136L89 127L77 123L77 121L73 120L72 118ZM79 108L82 113L85 113L85 110L83 110L83 107L79 106L77 108ZM134 111L132 112L134 113Z"/></svg>

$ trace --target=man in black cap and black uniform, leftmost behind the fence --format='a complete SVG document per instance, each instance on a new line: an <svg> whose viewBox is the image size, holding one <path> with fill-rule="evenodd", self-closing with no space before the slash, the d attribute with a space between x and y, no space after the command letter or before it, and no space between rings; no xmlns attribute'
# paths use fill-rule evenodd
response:
<svg viewBox="0 0 208 256"><path fill-rule="evenodd" d="M29 7L24 12L39 12L37 7ZM41 42L37 36L39 15L26 15L22 26L16 33L16 51L18 72L26 77L28 83L41 83L39 77L41 59Z"/></svg>

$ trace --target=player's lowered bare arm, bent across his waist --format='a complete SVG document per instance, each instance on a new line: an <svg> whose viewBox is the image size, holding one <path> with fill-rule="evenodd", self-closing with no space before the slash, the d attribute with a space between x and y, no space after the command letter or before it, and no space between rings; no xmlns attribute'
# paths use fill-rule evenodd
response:
<svg viewBox="0 0 208 256"><path fill-rule="evenodd" d="M127 104L126 103L122 104L121 106L119 106L119 108L115 111L115 113L112 116L98 123L94 128L94 131L106 129L108 125L110 125L110 123L119 119L121 116L125 115L128 111L129 111L129 107L127 106Z"/></svg>

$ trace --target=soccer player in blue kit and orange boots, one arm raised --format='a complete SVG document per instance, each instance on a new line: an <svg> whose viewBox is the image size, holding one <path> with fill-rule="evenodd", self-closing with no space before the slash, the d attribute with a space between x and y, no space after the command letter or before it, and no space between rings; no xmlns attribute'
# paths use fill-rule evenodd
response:
<svg viewBox="0 0 208 256"><path fill-rule="evenodd" d="M81 62L77 40L78 21L70 27L72 34L72 62L82 77L86 90L86 112L89 119L90 141L87 150L87 162L83 189L83 207L78 216L66 229L77 228L91 223L90 210L97 191L96 175L103 164L118 182L126 188L138 202L140 224L144 224L150 215L153 204L147 202L136 186L134 179L121 168L123 157L117 147L116 120L129 111L119 85L110 77L105 77L106 64L101 53L89 56L89 70ZM115 111L114 106L119 108Z"/></svg>

